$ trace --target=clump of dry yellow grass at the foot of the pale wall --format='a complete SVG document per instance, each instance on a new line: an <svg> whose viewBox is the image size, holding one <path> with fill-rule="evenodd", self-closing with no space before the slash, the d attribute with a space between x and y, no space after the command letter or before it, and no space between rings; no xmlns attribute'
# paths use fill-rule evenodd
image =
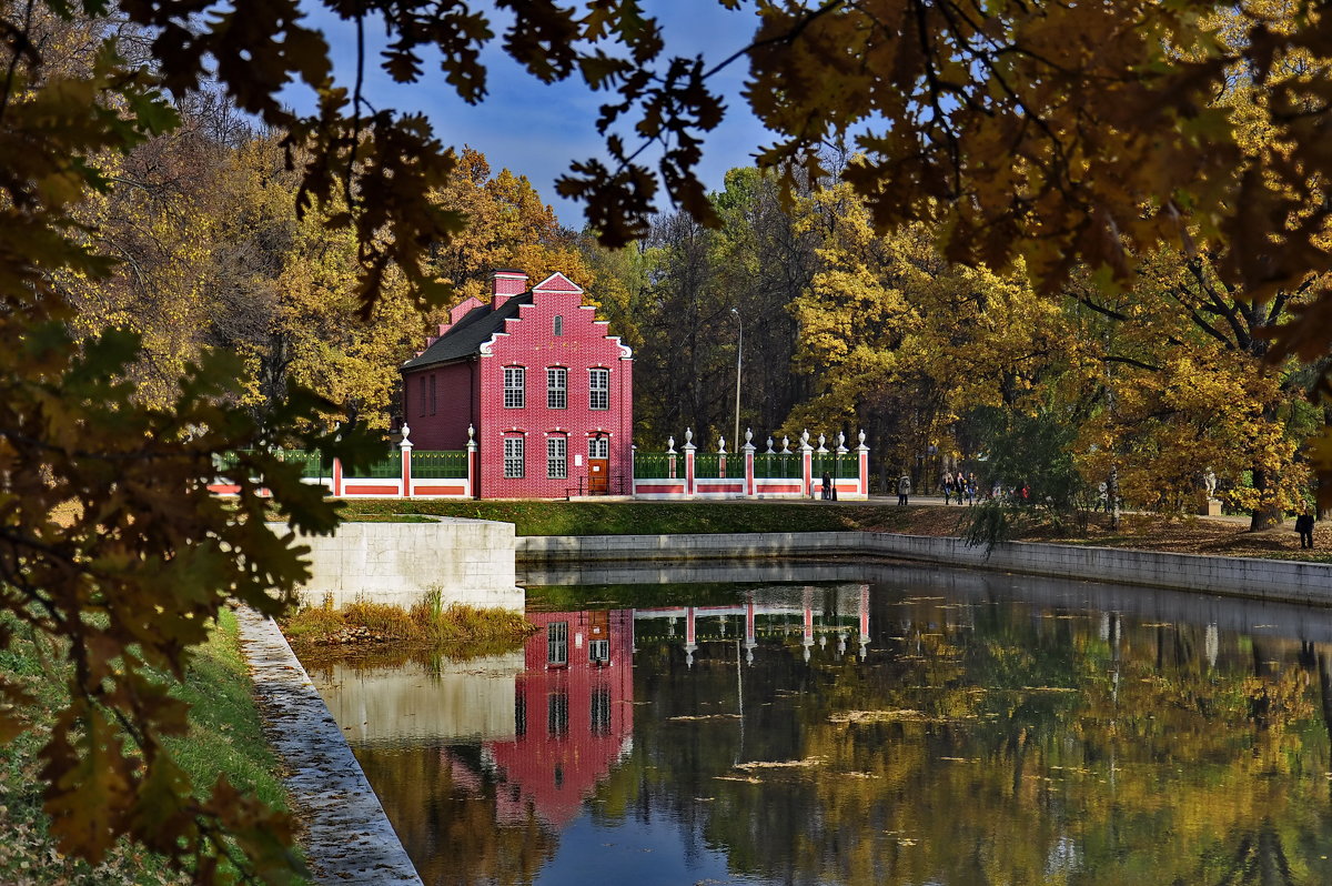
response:
<svg viewBox="0 0 1332 886"><path fill-rule="evenodd" d="M354 644L413 645L509 645L537 630L522 613L445 604L440 588L432 588L410 609L357 600L341 609L325 597L320 606L306 606L281 622L293 645L338 646Z"/></svg>

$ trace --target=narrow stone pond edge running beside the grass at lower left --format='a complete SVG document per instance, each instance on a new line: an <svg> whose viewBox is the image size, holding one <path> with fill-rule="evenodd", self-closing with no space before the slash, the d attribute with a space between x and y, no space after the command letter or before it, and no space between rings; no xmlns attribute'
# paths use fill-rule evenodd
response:
<svg viewBox="0 0 1332 886"><path fill-rule="evenodd" d="M236 617L268 741L290 773L286 787L308 827L314 882L421 886L380 798L282 632L252 609Z"/></svg>

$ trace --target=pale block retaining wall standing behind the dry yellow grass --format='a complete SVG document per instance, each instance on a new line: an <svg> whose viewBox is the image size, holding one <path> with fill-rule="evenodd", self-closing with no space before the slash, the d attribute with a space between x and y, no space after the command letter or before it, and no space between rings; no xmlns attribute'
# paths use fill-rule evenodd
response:
<svg viewBox="0 0 1332 886"><path fill-rule="evenodd" d="M334 536L301 538L310 548L310 581L304 602L334 606L357 597L410 606L432 585L445 604L517 609L522 589L514 581L513 524L440 517L420 524L342 524Z"/></svg>

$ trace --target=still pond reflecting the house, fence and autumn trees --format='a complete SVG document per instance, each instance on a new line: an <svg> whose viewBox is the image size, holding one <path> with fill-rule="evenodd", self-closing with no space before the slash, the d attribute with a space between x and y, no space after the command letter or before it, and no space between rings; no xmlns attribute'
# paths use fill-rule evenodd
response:
<svg viewBox="0 0 1332 886"><path fill-rule="evenodd" d="M1332 882L1328 612L892 564L526 581L521 650L310 669L426 883Z"/></svg>

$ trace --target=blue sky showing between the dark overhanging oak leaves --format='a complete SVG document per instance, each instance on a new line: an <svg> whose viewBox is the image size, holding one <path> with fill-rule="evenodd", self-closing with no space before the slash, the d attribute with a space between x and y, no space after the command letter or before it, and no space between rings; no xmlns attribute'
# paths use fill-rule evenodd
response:
<svg viewBox="0 0 1332 886"><path fill-rule="evenodd" d="M749 43L757 24L753 11L729 12L717 0L646 0L643 5L661 21L667 55L702 53L707 64L715 64ZM502 33L503 21L493 17L492 29ZM312 15L310 24L328 36L337 77L350 87L356 61L354 28L322 7ZM368 27L366 37L373 47L373 40L382 37L382 27ZM376 108L424 112L444 144L472 145L486 155L496 172L506 167L527 176L563 224L582 226L582 208L559 199L554 183L574 160L605 159L594 124L606 93L593 93L581 81L546 87L509 61L498 49L498 40L482 56L489 68L489 96L476 107L453 93L437 63L429 59L420 83L401 85L378 68L376 49L368 49L366 56L373 64L368 65L364 91ZM754 151L769 140L741 96L746 73L747 64L739 60L714 83L714 91L726 96L727 113L706 140L701 172L713 189L722 185L727 169L749 165ZM286 99L301 109L312 101L308 91L297 89ZM658 207L665 208L662 200Z"/></svg>

